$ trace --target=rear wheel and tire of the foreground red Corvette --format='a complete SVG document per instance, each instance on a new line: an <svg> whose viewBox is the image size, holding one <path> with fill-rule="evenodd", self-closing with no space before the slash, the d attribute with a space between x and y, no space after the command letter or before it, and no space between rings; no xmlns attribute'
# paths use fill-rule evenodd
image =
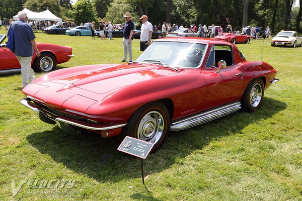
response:
<svg viewBox="0 0 302 201"><path fill-rule="evenodd" d="M254 112L260 108L264 95L264 85L262 79L253 79L245 89L242 99L241 107L245 112Z"/></svg>

